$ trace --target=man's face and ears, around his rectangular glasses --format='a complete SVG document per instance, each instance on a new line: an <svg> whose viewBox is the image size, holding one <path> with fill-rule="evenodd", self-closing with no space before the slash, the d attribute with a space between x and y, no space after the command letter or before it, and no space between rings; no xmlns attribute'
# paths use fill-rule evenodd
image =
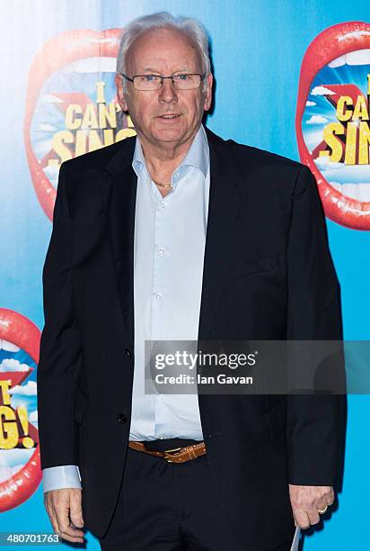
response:
<svg viewBox="0 0 370 551"><path fill-rule="evenodd" d="M126 75L155 74L168 77L173 73L202 73L197 47L186 34L176 30L145 32L134 41L126 56ZM208 111L212 100L212 76L207 76L196 90L176 90L171 78L163 80L159 90L136 90L127 81L125 94L122 78L116 76L119 104L128 111L140 138L156 146L179 145L191 140ZM174 118L164 118L174 114Z"/></svg>

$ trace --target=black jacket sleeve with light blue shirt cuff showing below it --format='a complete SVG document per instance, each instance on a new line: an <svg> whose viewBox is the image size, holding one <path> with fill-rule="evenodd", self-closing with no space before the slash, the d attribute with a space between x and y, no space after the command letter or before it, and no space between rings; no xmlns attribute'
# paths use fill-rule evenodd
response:
<svg viewBox="0 0 370 551"><path fill-rule="evenodd" d="M78 465L75 391L81 336L75 319L66 165L60 167L53 230L42 272L45 325L40 341L38 411L41 468Z"/></svg>

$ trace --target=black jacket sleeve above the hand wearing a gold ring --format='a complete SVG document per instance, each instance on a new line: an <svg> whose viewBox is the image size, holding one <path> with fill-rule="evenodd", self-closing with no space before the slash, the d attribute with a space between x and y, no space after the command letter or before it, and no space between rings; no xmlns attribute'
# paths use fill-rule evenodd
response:
<svg viewBox="0 0 370 551"><path fill-rule="evenodd" d="M295 181L287 272L287 339L341 340L339 282L316 182L307 167L301 168ZM341 361L335 368L344 370ZM288 396L289 483L336 483L344 407L345 396L339 394Z"/></svg>

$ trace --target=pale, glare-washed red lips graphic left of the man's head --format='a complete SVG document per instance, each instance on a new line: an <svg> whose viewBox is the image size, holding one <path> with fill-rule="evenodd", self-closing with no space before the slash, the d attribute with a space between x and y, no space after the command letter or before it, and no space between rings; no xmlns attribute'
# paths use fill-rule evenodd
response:
<svg viewBox="0 0 370 551"><path fill-rule="evenodd" d="M68 64L90 58L116 58L120 32L120 29L110 29L102 32L90 30L64 32L46 42L31 65L23 129L24 140L32 182L40 205L50 220L52 220L56 198L55 187L44 172L50 154L44 155L41 159L37 158L31 142L32 117L40 97L41 88L48 77L51 77L59 69L65 68ZM80 94L69 94L68 97L66 94L56 94L56 101L59 101L60 105L64 103L66 106L68 102L75 102L77 95L84 106L86 101L89 102L89 99L84 95L84 90ZM48 122L45 122L45 124L48 124Z"/></svg>

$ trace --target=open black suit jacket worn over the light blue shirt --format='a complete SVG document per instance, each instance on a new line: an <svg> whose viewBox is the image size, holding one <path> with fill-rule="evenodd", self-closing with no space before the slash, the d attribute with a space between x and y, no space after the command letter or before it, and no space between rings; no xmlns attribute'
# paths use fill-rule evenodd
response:
<svg viewBox="0 0 370 551"><path fill-rule="evenodd" d="M208 130L207 139L199 341L340 339L339 283L309 169ZM130 426L134 145L63 163L43 270L41 466L79 465L85 525L98 537L116 504ZM266 551L292 537L288 483L335 483L343 402L199 394L208 461L242 546Z"/></svg>

